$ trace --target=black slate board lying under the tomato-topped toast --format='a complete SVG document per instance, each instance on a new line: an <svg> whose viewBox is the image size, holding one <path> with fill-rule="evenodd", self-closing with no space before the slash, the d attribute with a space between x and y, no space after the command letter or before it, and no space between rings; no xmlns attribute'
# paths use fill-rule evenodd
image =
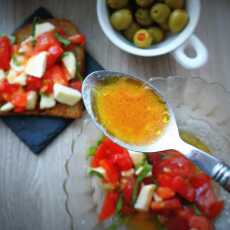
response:
<svg viewBox="0 0 230 230"><path fill-rule="evenodd" d="M19 28L28 23L32 23L34 17L46 20L53 18L53 15L47 9L40 7L34 11ZM103 68L87 53L86 75L101 69ZM42 150L73 121L63 118L26 116L4 117L2 120L35 154L41 153Z"/></svg>

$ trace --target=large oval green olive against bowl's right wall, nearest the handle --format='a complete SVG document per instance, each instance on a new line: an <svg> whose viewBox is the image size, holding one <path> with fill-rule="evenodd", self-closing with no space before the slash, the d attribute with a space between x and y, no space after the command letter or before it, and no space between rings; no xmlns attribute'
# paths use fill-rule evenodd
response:
<svg viewBox="0 0 230 230"><path fill-rule="evenodd" d="M174 10L169 17L169 29L172 33L178 33L188 23L188 14L185 10Z"/></svg>

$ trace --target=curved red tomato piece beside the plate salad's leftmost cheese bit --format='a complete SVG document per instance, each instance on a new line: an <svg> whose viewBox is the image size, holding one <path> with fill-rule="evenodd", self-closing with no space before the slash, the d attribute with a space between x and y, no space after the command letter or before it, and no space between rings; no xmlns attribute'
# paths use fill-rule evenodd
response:
<svg viewBox="0 0 230 230"><path fill-rule="evenodd" d="M117 184L119 182L119 173L114 165L107 160L101 160L99 164L106 171L106 181L111 184Z"/></svg>

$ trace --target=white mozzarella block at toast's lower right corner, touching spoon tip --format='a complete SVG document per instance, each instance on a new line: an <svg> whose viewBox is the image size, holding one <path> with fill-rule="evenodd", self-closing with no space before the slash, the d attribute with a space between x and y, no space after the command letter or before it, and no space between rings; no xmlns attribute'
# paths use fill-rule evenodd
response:
<svg viewBox="0 0 230 230"><path fill-rule="evenodd" d="M62 104L73 106L80 101L81 93L76 89L56 83L54 84L54 97Z"/></svg>

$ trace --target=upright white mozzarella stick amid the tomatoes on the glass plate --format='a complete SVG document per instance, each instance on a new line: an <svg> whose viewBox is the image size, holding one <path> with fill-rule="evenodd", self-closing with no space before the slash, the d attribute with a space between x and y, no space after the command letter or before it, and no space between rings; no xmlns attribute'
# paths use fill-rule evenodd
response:
<svg viewBox="0 0 230 230"><path fill-rule="evenodd" d="M141 188L137 201L134 205L135 209L147 212L149 210L155 189L156 185L154 184L144 185Z"/></svg>

